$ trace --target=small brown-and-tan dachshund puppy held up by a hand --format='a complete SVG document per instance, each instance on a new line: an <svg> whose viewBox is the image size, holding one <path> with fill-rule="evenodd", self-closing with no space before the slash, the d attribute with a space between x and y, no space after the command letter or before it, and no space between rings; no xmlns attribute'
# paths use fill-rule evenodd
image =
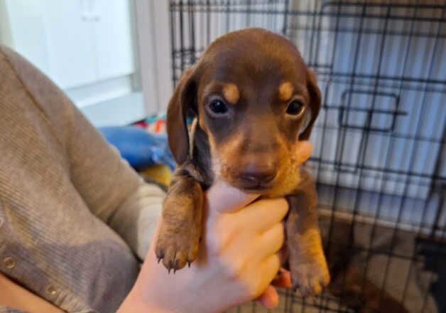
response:
<svg viewBox="0 0 446 313"><path fill-rule="evenodd" d="M188 110L196 115L190 138ZM168 270L197 257L203 191L223 179L245 192L286 196L293 287L305 296L328 284L315 184L295 163L296 142L310 137L319 110L315 77L288 39L246 28L210 44L183 73L168 105L168 138L178 169L156 243Z"/></svg>

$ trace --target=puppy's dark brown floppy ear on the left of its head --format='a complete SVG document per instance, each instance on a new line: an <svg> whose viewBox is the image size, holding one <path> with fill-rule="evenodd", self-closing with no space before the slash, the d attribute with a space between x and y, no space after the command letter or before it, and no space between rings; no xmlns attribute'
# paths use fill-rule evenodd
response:
<svg viewBox="0 0 446 313"><path fill-rule="evenodd" d="M195 83L192 68L181 75L170 98L167 112L167 133L170 151L177 164L183 164L189 154L189 134L187 132L187 110L195 108Z"/></svg>

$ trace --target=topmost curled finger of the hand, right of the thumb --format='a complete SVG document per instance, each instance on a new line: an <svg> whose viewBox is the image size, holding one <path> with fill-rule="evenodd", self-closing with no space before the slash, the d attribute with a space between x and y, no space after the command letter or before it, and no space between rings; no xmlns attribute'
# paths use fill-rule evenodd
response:
<svg viewBox="0 0 446 313"><path fill-rule="evenodd" d="M234 222L243 221L244 227L263 231L281 222L286 213L288 213L288 202L285 198L261 199L237 212ZM250 221L249 225L246 225L246 221Z"/></svg>

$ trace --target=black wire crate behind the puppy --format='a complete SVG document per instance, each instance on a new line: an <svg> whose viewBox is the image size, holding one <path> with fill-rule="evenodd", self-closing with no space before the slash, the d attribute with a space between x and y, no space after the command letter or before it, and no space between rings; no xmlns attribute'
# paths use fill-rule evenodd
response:
<svg viewBox="0 0 446 313"><path fill-rule="evenodd" d="M304 5L301 5L305 3ZM330 125L328 113L318 119L319 124L316 125L316 132L320 133L322 147L325 140L328 142L330 138L327 134L335 129L337 132L337 146L334 159L327 159L322 155L310 158L308 167L312 169L317 180L317 187L322 194L322 198L328 198L328 203L322 205L327 211L329 221L325 249L336 246L336 240L332 240L335 236L335 219L337 213L342 212L342 205L338 201L338 193L349 193L349 198L353 202L349 209L349 235L353 235L357 223L361 223L363 219L367 219L367 223L371 225L370 244L360 247L354 240L347 244L347 253L353 255L358 251L362 251L366 255L364 265L364 289L365 276L369 265L369 258L376 253L384 254L388 257L384 267L384 281L379 289L379 302L384 293L384 285L388 274L391 258L399 258L410 262L409 271L415 266L416 262L425 260L426 255L433 258L433 264L430 264L433 272L437 272L440 262L446 260L445 238L446 238L446 118L444 115L446 105L446 74L438 73L438 68L442 68L442 58L446 58L446 3L445 1L292 1L292 0L171 0L170 1L170 44L172 48L172 70L173 82L176 83L180 74L185 68L194 64L200 54L204 51L212 38L232 31L243 26L261 26L270 28L277 33L282 33L290 40L299 41L304 38L308 43L308 48L303 51L303 58L307 64L315 70L318 80L324 82L325 88L322 88L322 111L337 112L338 124ZM244 16L244 17L243 17ZM324 18L331 18L331 23L325 23ZM237 20L237 18L239 18ZM257 18L256 21L253 21ZM303 19L304 23L300 23ZM236 22L234 22L236 21ZM244 21L244 22L243 22ZM348 21L349 23L346 23ZM240 25L237 23L241 23ZM244 25L242 25L244 23ZM218 25L216 25L218 24ZM236 24L236 25L235 25ZM392 27L390 27L392 26ZM401 27L400 27L401 26ZM404 27L406 26L406 27ZM213 30L216 28L217 31ZM352 62L350 70L339 70L336 67L336 49L333 48L332 57L329 62L320 62L317 55L323 49L321 37L332 39L333 47L336 47L338 37L346 36L346 33L352 33ZM327 35L330 34L330 35ZM359 69L361 54L361 39L366 36L377 36L376 41L379 45L376 47L374 60L376 64L368 73ZM386 65L386 39L388 38L404 38L406 49L403 48L402 68L397 73L383 73ZM362 39L364 40L364 39ZM406 74L408 68L415 58L410 55L412 53L411 46L416 41L426 40L432 48L430 60L425 66L424 74L420 72ZM403 41L401 41L403 42ZM398 43L396 44L398 46ZM401 46L402 47L402 46ZM397 48L401 48L397 47ZM298 48L300 48L298 46ZM330 83L344 84L344 92L342 93L342 102L330 103ZM391 90L391 91L389 91ZM408 116L408 102L405 94L413 92L415 97L420 97L421 103L418 109L419 117L415 120L415 132L403 133L398 132L396 124L401 117ZM352 98L354 94L366 94L371 98L369 107L354 107ZM430 100L436 95L438 100L435 112L430 110ZM380 105L379 97L388 97L392 101L392 105L384 103L384 107ZM431 99L432 98L432 99ZM377 103L378 102L378 103ZM382 105L381 103L381 105ZM409 107L413 108L413 107ZM355 113L356 112L356 113ZM357 118L358 112L365 115L363 125L349 124L349 116ZM410 112L411 113L411 112ZM435 126L438 127L435 136L426 134L427 125L422 117L426 114L437 114L438 119ZM386 115L391 120L386 127L376 127L373 125L374 116ZM382 117L381 117L382 118ZM401 126L401 125L400 125ZM361 139L357 146L359 152L356 161L353 163L342 160L345 144L352 135L352 129L361 132ZM376 134L383 133L389 139L389 146L385 152L386 161L384 166L371 166L366 163L366 150L371 137ZM328 139L325 139L327 136ZM432 170L428 172L419 171L417 169L418 150L414 147L410 149L412 153L408 156L408 165L405 169L393 169L391 163L395 152L391 149L391 143L398 140L413 140L413 145L421 145L423 143L433 144L437 148L437 154L433 160ZM421 143L420 143L421 142ZM433 146L426 146L433 147ZM382 148L381 148L382 149ZM382 152L382 151L380 151ZM376 152L378 154L379 152ZM425 159L425 162L428 160ZM323 180L324 166L331 166L334 180L327 184ZM415 169L413 169L415 168ZM357 179L352 186L343 186L342 177L347 174L356 175ZM364 186L364 181L372 176L378 179L379 187L375 190ZM384 187L387 180L396 181L395 186L401 186L401 191L395 191L396 196L389 196L389 188ZM354 180L353 179L353 180ZM328 186L330 185L330 186ZM327 187L328 186L328 187ZM397 186L397 187L398 187ZM416 187L423 188L416 190ZM394 187L393 189L398 189ZM415 188L415 189L414 189ZM390 188L391 189L391 188ZM415 191L413 191L415 190ZM423 193L420 199L416 198L416 193ZM374 206L376 209L369 213L361 211L361 198L364 194L373 193ZM391 192L390 192L391 193ZM325 195L325 196L324 196ZM388 200L393 197L393 200ZM385 211L384 203L393 201L398 203L394 212L396 216L382 217L382 211ZM406 223L403 215L407 211L406 206L410 206L410 201L420 206L419 223ZM327 202L327 201L326 201ZM372 201L370 201L370 206ZM348 211L348 210L347 210ZM428 218L430 216L430 218ZM386 220L387 218L387 220ZM379 227L382 223L388 222L391 230L391 237L386 248L372 247L372 244L379 233ZM396 240L401 229L409 229L414 233L415 248L410 253L398 253L395 251ZM408 274L409 275L409 274ZM430 277L430 285L435 285L435 275ZM342 279L343 280L343 279ZM403 277L403 294L397 302L405 303L409 284L409 277ZM443 282L444 283L444 282ZM437 289L444 287L437 284ZM342 293L343 291L341 291ZM430 292L435 292L430 291ZM361 311L359 307L345 306L341 304L340 297L333 297L328 293L324 293L314 301L307 301L292 295L290 292L283 292L285 295L285 304L281 308L281 312L295 312L293 303L301 303L300 309L317 308L319 312L355 312ZM424 299L421 301L423 305L420 312L425 311L428 292L425 292ZM332 303L337 303L333 308ZM259 309L257 304L252 304L253 312ZM379 307L369 308L380 312ZM438 312L446 311L446 303L437 302Z"/></svg>

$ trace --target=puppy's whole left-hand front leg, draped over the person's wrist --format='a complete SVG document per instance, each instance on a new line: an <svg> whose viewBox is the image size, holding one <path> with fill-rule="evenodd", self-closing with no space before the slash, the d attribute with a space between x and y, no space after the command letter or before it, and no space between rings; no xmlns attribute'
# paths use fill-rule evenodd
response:
<svg viewBox="0 0 446 313"><path fill-rule="evenodd" d="M180 270L197 258L202 230L203 191L184 169L178 169L163 204L163 223L156 256L169 270Z"/></svg>

